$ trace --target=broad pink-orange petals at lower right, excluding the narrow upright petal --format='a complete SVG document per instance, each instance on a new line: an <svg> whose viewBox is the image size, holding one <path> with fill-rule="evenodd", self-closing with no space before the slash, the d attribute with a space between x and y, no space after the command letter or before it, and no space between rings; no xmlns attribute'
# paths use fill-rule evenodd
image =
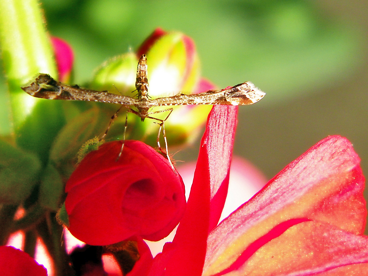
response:
<svg viewBox="0 0 368 276"><path fill-rule="evenodd" d="M368 263L359 162L346 138L313 146L209 234L204 275L360 269L349 266Z"/></svg>

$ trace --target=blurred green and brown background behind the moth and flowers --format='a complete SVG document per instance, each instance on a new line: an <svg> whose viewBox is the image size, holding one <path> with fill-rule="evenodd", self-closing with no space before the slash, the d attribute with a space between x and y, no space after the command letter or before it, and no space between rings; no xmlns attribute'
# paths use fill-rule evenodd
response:
<svg viewBox="0 0 368 276"><path fill-rule="evenodd" d="M181 31L197 45L202 75L219 88L250 80L267 93L240 107L235 154L271 178L339 134L368 174L368 1L43 0L42 7L50 34L74 49L75 83L158 26ZM175 159L197 154L198 142Z"/></svg>

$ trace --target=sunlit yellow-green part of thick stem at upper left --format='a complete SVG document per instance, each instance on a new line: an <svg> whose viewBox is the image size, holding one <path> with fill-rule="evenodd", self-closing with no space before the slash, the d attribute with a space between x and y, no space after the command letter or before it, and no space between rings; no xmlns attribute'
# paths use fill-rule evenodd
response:
<svg viewBox="0 0 368 276"><path fill-rule="evenodd" d="M0 48L16 130L36 103L20 87L39 72L57 76L37 0L0 1Z"/></svg>

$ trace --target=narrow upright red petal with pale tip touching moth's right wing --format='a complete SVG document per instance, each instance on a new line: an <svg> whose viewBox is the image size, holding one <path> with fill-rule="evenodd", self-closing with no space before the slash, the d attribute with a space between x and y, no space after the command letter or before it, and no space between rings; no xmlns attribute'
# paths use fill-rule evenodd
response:
<svg viewBox="0 0 368 276"><path fill-rule="evenodd" d="M229 184L237 106L213 106L194 173L187 210L173 243L156 256L149 275L201 275L208 229L220 218Z"/></svg>

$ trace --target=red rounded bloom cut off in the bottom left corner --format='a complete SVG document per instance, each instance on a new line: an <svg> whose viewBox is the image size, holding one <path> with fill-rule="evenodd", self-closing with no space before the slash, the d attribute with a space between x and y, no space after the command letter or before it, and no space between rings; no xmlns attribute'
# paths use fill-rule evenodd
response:
<svg viewBox="0 0 368 276"><path fill-rule="evenodd" d="M47 270L27 253L11 246L0 246L1 276L47 276Z"/></svg>

